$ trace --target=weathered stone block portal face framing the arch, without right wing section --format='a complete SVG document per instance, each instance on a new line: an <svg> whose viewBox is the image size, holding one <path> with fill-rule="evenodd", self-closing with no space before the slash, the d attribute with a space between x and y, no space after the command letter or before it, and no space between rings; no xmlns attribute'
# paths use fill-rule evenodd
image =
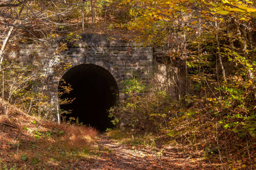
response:
<svg viewBox="0 0 256 170"><path fill-rule="evenodd" d="M82 41L68 45L67 50L58 52L58 48L59 43L56 42L51 47L20 44L18 54L22 65L42 65L42 75L47 77L44 84L49 90L52 103L57 102L59 80L67 71L63 69L64 63L70 63L72 67L83 63L104 67L115 77L120 101L125 100L122 80L131 77L134 72L144 80L150 80L152 75L153 47L142 47L107 35L84 35ZM62 70L56 70L56 66L62 67Z"/></svg>

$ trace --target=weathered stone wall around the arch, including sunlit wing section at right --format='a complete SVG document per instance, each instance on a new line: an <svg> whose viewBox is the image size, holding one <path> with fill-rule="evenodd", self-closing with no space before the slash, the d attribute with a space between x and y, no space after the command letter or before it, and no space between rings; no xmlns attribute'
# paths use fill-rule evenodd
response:
<svg viewBox="0 0 256 170"><path fill-rule="evenodd" d="M142 80L154 82L161 90L168 91L169 95L177 98L177 88L172 83L174 76L166 65L156 61L163 52L154 47L143 47L136 43L125 42L119 37L107 35L84 35L82 40L67 44L67 49L60 48L61 41L54 41L47 46L36 44L20 44L20 49L8 52L8 58L15 58L20 65L40 67L43 85L36 85L33 90L44 89L51 99L53 109L58 109L58 86L61 77L70 68L84 63L95 64L108 70L118 85L119 102L127 97L122 92L122 80L132 77L134 73ZM13 55L15 54L15 55ZM14 56L14 57L13 57ZM37 70L37 69L36 69ZM167 73L168 72L168 73ZM41 92L38 90L38 92ZM122 115L120 126L129 124L129 115ZM127 119L125 118L127 117Z"/></svg>

